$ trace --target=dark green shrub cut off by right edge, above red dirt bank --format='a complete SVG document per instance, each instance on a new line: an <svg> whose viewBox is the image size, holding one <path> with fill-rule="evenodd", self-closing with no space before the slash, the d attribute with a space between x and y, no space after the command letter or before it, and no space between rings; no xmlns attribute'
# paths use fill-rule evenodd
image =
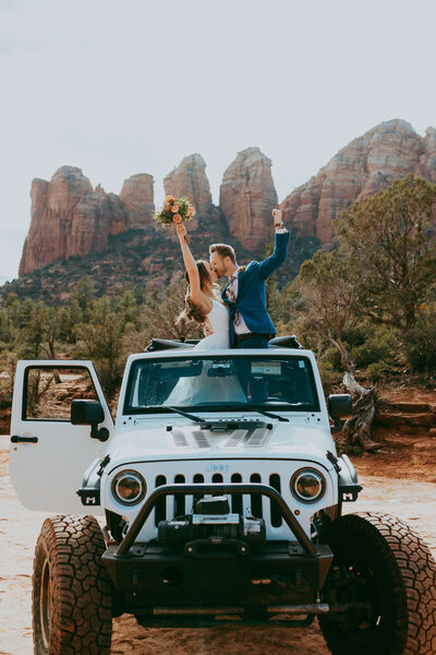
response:
<svg viewBox="0 0 436 655"><path fill-rule="evenodd" d="M421 308L416 323L404 335L404 350L413 370L436 373L436 306Z"/></svg>

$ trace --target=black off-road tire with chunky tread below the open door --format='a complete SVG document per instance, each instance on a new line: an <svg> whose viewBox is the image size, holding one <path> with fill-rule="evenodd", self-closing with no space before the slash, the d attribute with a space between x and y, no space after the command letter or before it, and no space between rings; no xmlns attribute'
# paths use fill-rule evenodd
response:
<svg viewBox="0 0 436 655"><path fill-rule="evenodd" d="M104 551L94 516L44 522L33 575L35 655L109 655L111 583Z"/></svg>

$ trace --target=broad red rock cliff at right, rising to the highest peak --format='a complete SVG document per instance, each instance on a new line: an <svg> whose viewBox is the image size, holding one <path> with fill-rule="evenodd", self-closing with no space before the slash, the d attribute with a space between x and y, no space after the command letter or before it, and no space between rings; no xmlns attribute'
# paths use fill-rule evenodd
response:
<svg viewBox="0 0 436 655"><path fill-rule="evenodd" d="M436 181L436 130L420 136L403 120L368 130L340 150L316 176L288 195L280 207L296 236L332 245L332 219L349 204L386 189L409 172Z"/></svg>

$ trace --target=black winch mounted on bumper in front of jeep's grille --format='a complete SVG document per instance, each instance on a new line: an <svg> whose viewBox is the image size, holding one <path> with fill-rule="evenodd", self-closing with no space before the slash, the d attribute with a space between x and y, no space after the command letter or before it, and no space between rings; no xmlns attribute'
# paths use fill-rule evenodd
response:
<svg viewBox="0 0 436 655"><path fill-rule="evenodd" d="M238 539L251 546L262 546L266 540L265 521L252 515L231 513L228 498L214 496L197 500L193 514L159 522L159 544L182 546L198 539L207 539L216 545Z"/></svg>

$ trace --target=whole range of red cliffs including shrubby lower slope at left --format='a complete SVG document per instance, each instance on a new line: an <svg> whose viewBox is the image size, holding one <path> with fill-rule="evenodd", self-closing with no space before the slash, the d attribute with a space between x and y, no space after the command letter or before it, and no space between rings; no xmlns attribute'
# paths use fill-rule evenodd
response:
<svg viewBox="0 0 436 655"><path fill-rule="evenodd" d="M408 122L390 120L340 150L280 205L292 235L279 278L295 275L317 248L331 247L332 219L344 207L409 172L436 181L435 129L420 136ZM213 203L199 154L184 157L164 186L166 193L186 195L197 210L189 224L197 257L207 257L211 241L233 243L241 263L263 257L274 238L271 210L278 200L271 160L258 147L238 153L226 169L219 205ZM20 279L12 287L5 285L0 298L13 288L52 300L68 295L69 286L84 274L98 278L99 288L108 293L117 293L130 279L147 286L169 284L172 269L181 274L180 258L171 265L174 230L153 219L152 175L130 177L117 195L100 186L94 189L80 168L62 166L50 181L33 180L31 198Z"/></svg>

